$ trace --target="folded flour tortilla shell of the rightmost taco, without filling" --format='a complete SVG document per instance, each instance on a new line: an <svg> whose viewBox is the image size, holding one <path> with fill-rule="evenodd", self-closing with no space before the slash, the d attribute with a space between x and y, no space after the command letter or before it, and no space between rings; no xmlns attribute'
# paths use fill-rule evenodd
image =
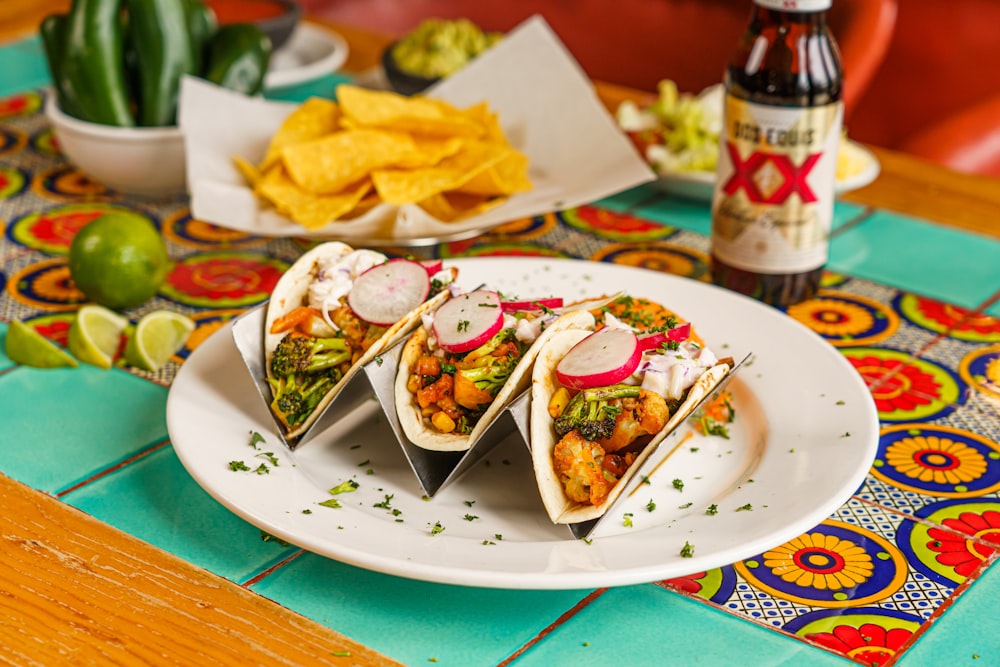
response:
<svg viewBox="0 0 1000 667"><path fill-rule="evenodd" d="M569 352L571 347L589 334L589 331L563 331L552 336L538 351L531 375L531 459L542 504L545 505L545 511L548 512L552 523L581 523L603 516L628 486L629 480L635 476L643 462L656 451L664 438L691 415L694 406L702 398L711 394L730 371L730 365L722 362L706 370L695 381L688 390L684 401L670 416L667 424L643 448L635 462L629 466L628 471L612 487L602 505L595 506L573 502L563 492L563 485L559 481L559 475L556 473L555 464L552 461L552 453L555 451L559 438L552 428L553 420L549 415L549 400L560 386L555 373L559 360Z"/></svg>

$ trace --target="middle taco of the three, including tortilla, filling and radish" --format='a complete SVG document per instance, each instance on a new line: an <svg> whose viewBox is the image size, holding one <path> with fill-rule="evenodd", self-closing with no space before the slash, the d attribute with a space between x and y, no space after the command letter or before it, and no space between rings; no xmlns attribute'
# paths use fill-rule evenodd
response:
<svg viewBox="0 0 1000 667"><path fill-rule="evenodd" d="M528 388L538 349L554 334L594 327L607 297L563 307L561 299L511 301L491 290L425 313L396 376L396 413L407 437L433 451L470 448Z"/></svg>

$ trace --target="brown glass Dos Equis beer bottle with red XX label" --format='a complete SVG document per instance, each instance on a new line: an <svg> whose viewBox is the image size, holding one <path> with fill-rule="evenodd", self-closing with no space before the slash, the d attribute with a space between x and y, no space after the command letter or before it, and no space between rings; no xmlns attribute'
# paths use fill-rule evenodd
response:
<svg viewBox="0 0 1000 667"><path fill-rule="evenodd" d="M832 0L753 0L725 72L712 199L716 284L786 307L819 288L843 124Z"/></svg>

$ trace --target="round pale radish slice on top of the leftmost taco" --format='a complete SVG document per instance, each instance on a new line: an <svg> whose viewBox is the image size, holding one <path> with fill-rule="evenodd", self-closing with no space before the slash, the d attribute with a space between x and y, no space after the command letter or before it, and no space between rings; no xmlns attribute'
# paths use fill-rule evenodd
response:
<svg viewBox="0 0 1000 667"><path fill-rule="evenodd" d="M387 327L427 300L430 277L420 262L390 259L354 279L347 305L369 324Z"/></svg>

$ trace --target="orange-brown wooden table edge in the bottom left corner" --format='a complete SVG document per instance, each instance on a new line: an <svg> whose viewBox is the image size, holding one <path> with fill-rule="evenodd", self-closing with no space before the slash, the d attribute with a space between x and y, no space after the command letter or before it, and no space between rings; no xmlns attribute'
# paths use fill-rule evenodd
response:
<svg viewBox="0 0 1000 667"><path fill-rule="evenodd" d="M401 663L0 474L0 662Z"/></svg>

